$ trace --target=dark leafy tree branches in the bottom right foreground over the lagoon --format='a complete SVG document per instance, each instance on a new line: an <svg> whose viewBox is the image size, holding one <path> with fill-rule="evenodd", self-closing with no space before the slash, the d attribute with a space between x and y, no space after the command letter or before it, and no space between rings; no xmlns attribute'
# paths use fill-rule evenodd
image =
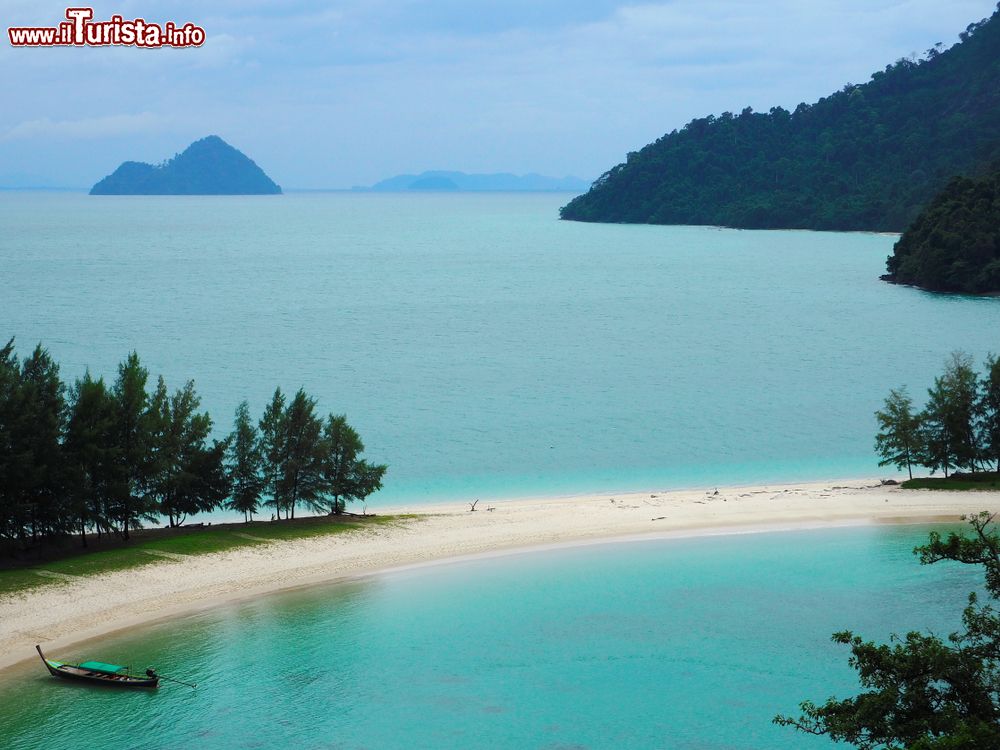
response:
<svg viewBox="0 0 1000 750"><path fill-rule="evenodd" d="M1000 596L1000 536L990 513L968 519L972 535L933 532L914 550L923 564L982 566L986 591ZM889 644L850 631L834 641L851 649L860 695L801 704L799 717L775 722L827 735L861 750L996 750L1000 747L1000 613L969 595L963 630L947 639L916 632Z"/></svg>

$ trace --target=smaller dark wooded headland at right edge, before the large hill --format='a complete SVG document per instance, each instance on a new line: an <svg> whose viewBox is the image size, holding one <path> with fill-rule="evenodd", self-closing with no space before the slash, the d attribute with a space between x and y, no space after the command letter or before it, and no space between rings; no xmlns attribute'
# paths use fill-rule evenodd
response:
<svg viewBox="0 0 1000 750"><path fill-rule="evenodd" d="M1000 164L956 177L893 248L884 277L940 292L1000 292Z"/></svg>

